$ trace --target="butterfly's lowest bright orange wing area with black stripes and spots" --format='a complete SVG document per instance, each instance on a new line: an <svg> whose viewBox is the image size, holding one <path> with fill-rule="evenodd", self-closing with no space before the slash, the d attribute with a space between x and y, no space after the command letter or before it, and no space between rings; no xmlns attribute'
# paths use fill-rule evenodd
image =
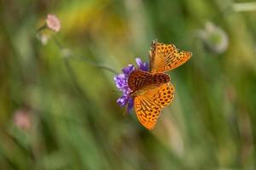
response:
<svg viewBox="0 0 256 170"><path fill-rule="evenodd" d="M171 82L161 85L159 88L147 90L144 94L134 99L134 108L139 122L144 127L153 129L160 111L172 102L174 87Z"/></svg>

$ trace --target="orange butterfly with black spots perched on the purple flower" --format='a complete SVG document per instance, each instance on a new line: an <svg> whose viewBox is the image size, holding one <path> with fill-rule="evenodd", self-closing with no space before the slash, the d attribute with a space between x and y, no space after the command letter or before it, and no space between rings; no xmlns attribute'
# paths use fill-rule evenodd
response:
<svg viewBox="0 0 256 170"><path fill-rule="evenodd" d="M149 51L150 71L135 70L128 77L130 97L139 122L153 129L160 111L172 103L175 88L165 72L183 65L192 53L178 50L173 44L153 41Z"/></svg>

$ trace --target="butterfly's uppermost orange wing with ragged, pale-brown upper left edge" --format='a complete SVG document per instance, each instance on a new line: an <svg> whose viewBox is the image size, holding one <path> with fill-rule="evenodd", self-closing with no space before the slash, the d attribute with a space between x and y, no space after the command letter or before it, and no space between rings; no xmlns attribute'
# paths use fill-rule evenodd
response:
<svg viewBox="0 0 256 170"><path fill-rule="evenodd" d="M173 44L152 42L149 52L150 71L166 72L183 65L192 53L178 50Z"/></svg>

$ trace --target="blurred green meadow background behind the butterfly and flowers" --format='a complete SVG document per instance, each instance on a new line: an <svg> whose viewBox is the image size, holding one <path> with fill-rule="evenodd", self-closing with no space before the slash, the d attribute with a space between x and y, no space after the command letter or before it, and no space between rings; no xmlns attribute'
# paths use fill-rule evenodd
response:
<svg viewBox="0 0 256 170"><path fill-rule="evenodd" d="M256 169L255 9L241 0L2 0L0 169ZM47 14L60 32L37 32ZM102 67L148 61L156 38L193 56L169 72L175 99L148 131L134 111L123 116Z"/></svg>

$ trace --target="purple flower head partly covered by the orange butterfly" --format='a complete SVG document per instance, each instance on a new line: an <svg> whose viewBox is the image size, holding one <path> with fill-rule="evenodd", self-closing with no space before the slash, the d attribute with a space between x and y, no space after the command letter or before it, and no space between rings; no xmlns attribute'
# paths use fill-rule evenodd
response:
<svg viewBox="0 0 256 170"><path fill-rule="evenodd" d="M148 71L148 63L143 63L142 59L136 58L138 69L143 71ZM131 71L134 71L134 65L128 65L124 69L122 69L123 73L116 75L113 77L115 85L119 90L123 93L121 97L117 100L117 103L120 106L127 106L128 112L133 108L133 99L130 97L131 89L128 86L128 77L131 74Z"/></svg>

